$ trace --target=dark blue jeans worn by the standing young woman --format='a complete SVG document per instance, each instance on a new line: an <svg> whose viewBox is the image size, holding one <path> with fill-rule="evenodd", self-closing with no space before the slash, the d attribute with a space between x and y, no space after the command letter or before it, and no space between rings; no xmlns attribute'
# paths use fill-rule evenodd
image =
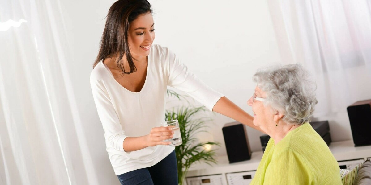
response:
<svg viewBox="0 0 371 185"><path fill-rule="evenodd" d="M151 167L117 176L122 185L178 185L175 150Z"/></svg>

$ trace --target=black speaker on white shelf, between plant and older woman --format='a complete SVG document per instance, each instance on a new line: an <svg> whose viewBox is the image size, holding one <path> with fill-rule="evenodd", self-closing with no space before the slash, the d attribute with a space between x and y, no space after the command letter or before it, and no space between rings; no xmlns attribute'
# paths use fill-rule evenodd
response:
<svg viewBox="0 0 371 185"><path fill-rule="evenodd" d="M232 122L224 124L222 130L229 163L249 160L251 149L245 126Z"/></svg>

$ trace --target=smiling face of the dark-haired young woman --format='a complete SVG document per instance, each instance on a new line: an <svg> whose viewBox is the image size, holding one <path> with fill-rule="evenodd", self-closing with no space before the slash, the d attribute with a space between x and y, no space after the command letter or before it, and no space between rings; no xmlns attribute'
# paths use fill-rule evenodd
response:
<svg viewBox="0 0 371 185"><path fill-rule="evenodd" d="M151 45L155 39L153 17L150 12L139 15L130 23L128 44L131 55L140 60L150 54Z"/></svg>

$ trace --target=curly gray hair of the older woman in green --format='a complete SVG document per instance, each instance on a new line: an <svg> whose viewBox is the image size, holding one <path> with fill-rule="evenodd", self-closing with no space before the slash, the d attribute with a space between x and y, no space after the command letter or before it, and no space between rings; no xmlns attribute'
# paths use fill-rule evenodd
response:
<svg viewBox="0 0 371 185"><path fill-rule="evenodd" d="M253 81L266 92L265 105L284 114L283 121L301 125L311 121L316 83L309 80L309 73L300 64L274 65L258 70Z"/></svg>

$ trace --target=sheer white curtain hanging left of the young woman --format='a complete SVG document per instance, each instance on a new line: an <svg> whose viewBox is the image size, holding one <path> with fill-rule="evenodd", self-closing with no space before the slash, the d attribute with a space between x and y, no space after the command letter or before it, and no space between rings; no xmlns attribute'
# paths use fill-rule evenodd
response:
<svg viewBox="0 0 371 185"><path fill-rule="evenodd" d="M0 22L0 184L98 184L59 1L2 1Z"/></svg>

